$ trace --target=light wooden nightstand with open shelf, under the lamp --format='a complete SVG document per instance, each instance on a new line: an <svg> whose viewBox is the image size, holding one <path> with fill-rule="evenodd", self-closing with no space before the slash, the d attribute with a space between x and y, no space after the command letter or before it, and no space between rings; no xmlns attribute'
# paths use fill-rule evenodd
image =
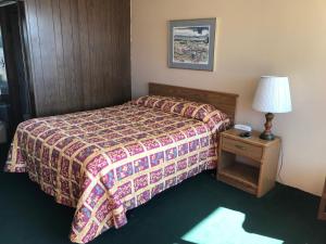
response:
<svg viewBox="0 0 326 244"><path fill-rule="evenodd" d="M240 132L221 133L217 179L261 197L275 185L280 139L264 141L258 131L240 138Z"/></svg>

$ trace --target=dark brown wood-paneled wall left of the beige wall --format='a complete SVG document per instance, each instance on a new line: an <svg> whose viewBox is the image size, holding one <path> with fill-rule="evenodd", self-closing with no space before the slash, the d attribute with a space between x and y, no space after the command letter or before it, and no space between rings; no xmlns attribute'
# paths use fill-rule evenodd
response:
<svg viewBox="0 0 326 244"><path fill-rule="evenodd" d="M36 115L130 99L129 0L25 0Z"/></svg>

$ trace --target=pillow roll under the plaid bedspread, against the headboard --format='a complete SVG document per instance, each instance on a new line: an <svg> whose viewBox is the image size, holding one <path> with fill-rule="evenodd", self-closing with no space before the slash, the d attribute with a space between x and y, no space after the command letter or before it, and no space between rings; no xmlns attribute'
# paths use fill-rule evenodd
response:
<svg viewBox="0 0 326 244"><path fill-rule="evenodd" d="M161 95L140 97L131 103L201 120L209 126L212 132L225 130L230 125L230 120L225 113L206 103L197 103L180 98Z"/></svg>

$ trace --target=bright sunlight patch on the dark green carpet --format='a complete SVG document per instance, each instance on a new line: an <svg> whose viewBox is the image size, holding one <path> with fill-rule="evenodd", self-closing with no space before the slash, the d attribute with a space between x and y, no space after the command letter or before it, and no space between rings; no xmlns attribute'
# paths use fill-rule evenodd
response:
<svg viewBox="0 0 326 244"><path fill-rule="evenodd" d="M243 230L246 215L218 207L181 239L197 244L283 244L284 241Z"/></svg>

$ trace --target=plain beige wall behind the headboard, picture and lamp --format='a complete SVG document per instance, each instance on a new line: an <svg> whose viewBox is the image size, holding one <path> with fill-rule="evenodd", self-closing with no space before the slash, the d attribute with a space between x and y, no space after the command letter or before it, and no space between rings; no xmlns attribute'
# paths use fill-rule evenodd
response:
<svg viewBox="0 0 326 244"><path fill-rule="evenodd" d="M170 20L217 17L214 72L167 67ZM239 93L237 123L262 130L251 103L261 75L290 77L293 112L276 115L284 183L321 194L326 175L325 0L131 0L133 97L156 81ZM280 180L280 179L278 179Z"/></svg>

